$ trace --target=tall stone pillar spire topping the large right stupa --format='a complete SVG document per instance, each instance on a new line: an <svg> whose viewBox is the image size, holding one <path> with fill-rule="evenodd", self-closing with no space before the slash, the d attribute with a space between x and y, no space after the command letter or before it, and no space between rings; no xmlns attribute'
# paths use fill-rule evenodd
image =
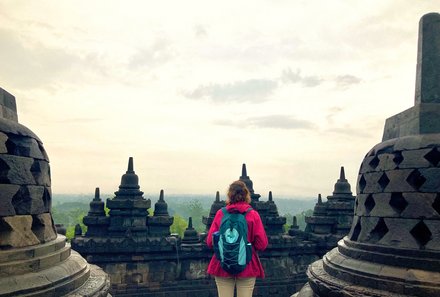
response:
<svg viewBox="0 0 440 297"><path fill-rule="evenodd" d="M419 22L415 104L440 103L440 14Z"/></svg>

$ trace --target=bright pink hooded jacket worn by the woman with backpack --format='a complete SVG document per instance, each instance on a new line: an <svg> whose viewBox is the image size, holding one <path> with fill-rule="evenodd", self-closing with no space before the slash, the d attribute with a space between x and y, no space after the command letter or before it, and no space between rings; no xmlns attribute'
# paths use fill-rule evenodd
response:
<svg viewBox="0 0 440 297"><path fill-rule="evenodd" d="M238 202L226 206L226 209L231 212L232 210L238 210L239 212L245 212L251 207L246 202ZM215 214L214 221L209 229L208 236L206 237L206 244L212 249L212 233L220 229L223 212L220 209ZM236 277L259 277L264 278L264 270L258 258L257 251L264 251L267 247L267 236L264 231L263 223L261 222L260 215L256 210L251 210L246 215L246 221L248 224L248 242L252 243L252 259L246 268L240 272ZM220 261L212 256L211 262L208 265L208 273L214 276L229 277L229 273L224 271L221 267Z"/></svg>

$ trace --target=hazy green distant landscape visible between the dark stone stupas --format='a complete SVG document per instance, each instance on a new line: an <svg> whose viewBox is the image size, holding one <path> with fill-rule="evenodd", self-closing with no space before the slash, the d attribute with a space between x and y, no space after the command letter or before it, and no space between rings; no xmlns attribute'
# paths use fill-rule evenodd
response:
<svg viewBox="0 0 440 297"><path fill-rule="evenodd" d="M63 224L67 228L67 236L73 236L74 226L78 223L82 225L82 218L87 215L89 211L89 203L94 195L74 195L74 194L54 194L52 202L53 218L56 224ZM101 199L106 201L108 198L113 198L111 194L101 194ZM159 199L157 194L144 194L144 198L151 200L150 213L154 211L154 204ZM224 200L225 197L220 196ZM199 232L205 230L205 225L202 223L202 217L208 216L214 195L165 195L165 201L168 204L168 212L174 216L174 224L171 226L172 233L183 234L188 218L193 218L193 226ZM266 197L260 200L267 200ZM279 214L285 216L287 219L286 228L292 224L292 217L297 216L298 225L304 229L304 217L309 216L316 203L314 198L274 198L278 207ZM83 231L85 226L82 225Z"/></svg>

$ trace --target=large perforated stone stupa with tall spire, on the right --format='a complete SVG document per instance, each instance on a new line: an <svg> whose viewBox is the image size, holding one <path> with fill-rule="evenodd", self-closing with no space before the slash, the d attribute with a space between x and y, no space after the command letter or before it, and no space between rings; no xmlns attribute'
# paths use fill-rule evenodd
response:
<svg viewBox="0 0 440 297"><path fill-rule="evenodd" d="M414 107L365 156L348 236L300 297L440 296L440 14L419 24Z"/></svg>

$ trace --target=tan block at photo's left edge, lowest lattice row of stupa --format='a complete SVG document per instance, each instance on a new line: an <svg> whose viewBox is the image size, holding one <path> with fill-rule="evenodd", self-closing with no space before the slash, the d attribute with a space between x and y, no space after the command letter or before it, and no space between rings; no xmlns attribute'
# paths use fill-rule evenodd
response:
<svg viewBox="0 0 440 297"><path fill-rule="evenodd" d="M39 244L32 232L32 216L12 216L0 218L0 247L25 247Z"/></svg>

